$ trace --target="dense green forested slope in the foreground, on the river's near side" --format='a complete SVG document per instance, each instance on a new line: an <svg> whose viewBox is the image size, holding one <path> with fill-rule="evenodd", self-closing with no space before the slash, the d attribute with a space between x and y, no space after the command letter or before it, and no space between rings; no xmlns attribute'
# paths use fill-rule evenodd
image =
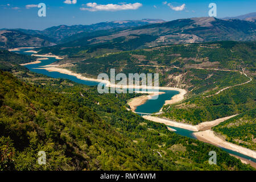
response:
<svg viewBox="0 0 256 182"><path fill-rule="evenodd" d="M252 169L217 147L131 113L126 101L135 94L100 95L96 88L27 69L14 74L26 82L0 71L1 169ZM212 150L217 166L208 164ZM46 166L36 163L38 151L46 151Z"/></svg>

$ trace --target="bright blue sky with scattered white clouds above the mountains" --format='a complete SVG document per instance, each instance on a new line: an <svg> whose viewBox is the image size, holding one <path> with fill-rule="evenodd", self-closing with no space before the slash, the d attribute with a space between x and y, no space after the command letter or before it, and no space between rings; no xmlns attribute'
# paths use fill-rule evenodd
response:
<svg viewBox="0 0 256 182"><path fill-rule="evenodd" d="M92 24L144 18L174 20L201 17L208 16L208 5L212 2L217 5L217 18L252 13L256 9L255 0L1 0L0 28L43 30L60 24ZM39 3L46 4L46 17L38 16L39 9L35 5Z"/></svg>

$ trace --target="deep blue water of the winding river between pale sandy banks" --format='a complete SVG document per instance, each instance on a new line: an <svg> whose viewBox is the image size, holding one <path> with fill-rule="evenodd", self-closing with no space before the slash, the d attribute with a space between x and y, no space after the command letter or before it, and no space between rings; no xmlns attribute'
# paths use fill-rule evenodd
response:
<svg viewBox="0 0 256 182"><path fill-rule="evenodd" d="M13 51L13 52L26 54L26 55L32 55L33 54L32 52L26 52L29 50L30 49L20 49L19 51ZM53 77L53 78L67 78L67 79L77 82L79 84L85 84L85 85L89 85L89 86L98 85L98 82L96 82L96 81L86 81L86 80L81 80L75 76L66 75L66 74L59 73L59 72L48 72L45 69L36 69L36 68L42 68L46 65L55 63L55 61L56 61L55 57L48 57L47 60L40 60L40 61L41 61L41 63L28 64L28 65L25 65L25 67L30 69L30 71L32 71L32 72L41 73L43 75L47 75L47 76ZM166 100L170 100L170 98L172 98L173 96L175 96L176 94L179 93L175 90L159 90L159 91L165 92L165 94L160 94L158 96L157 100L147 100L143 105L137 106L137 109L135 111L138 113L156 113L162 108L162 106L164 105L164 102ZM176 131L174 131L174 132L177 134L180 134L185 137L192 138L192 139L196 139L195 135L193 135L194 131L181 129L179 127L173 127L173 126L170 126L170 127L172 129L175 129ZM222 147L220 147L220 148L222 148ZM250 156L246 156L239 152L232 151L232 150L229 150L226 148L222 148L222 150L229 152L229 154L236 155L236 156L239 156L240 158L247 159L247 160L250 160L251 162L256 163L256 159L251 158Z"/></svg>

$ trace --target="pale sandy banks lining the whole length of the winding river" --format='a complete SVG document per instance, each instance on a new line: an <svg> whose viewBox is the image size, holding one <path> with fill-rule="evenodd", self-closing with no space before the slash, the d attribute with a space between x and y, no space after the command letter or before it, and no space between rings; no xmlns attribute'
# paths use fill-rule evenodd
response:
<svg viewBox="0 0 256 182"><path fill-rule="evenodd" d="M22 48L11 49L11 50L19 51L19 49L22 49ZM36 51L31 51L31 52L36 53ZM64 59L64 58L61 58L61 57L55 56L55 55L32 55L32 56L55 57L56 59ZM39 60L37 60L37 61L39 61ZM35 62L36 61L34 61L32 63L27 63L27 64L33 64L33 63L37 64ZM55 66L57 66L57 65L47 65L44 68L36 68L36 69L46 69L49 72L60 72L60 73L64 73L64 74L67 74L67 75L76 76L77 78L79 78L81 80L102 82L102 80L98 80L96 78L87 78L87 77L84 77L84 76L82 76L80 74L73 73L73 72L69 71L68 69L57 68ZM114 87L114 88L120 88L119 85L110 84L109 81L103 81L103 82L105 82L106 86ZM179 94L177 94L174 97L172 97L172 99L170 101L166 101L164 105L175 104L177 102L180 102L180 101L182 101L184 99L184 95L187 94L186 90L180 89L180 88L152 87L152 86L151 87L148 87L148 86L146 86L146 87L143 86L142 87L142 86L130 86L130 85L122 87L122 88L127 88L127 89L129 89L129 88L133 88L133 89L141 89L141 88L143 88L143 89L156 89L156 90L176 90L176 91L180 92ZM144 102L146 102L150 97L152 97L152 96L154 96L156 94L162 94L162 93L163 92L150 93L149 96L141 96L141 97L133 98L133 100L131 100L129 102L129 105L131 103L131 105L130 105L131 110L135 111L137 106L144 104ZM166 125L170 125L170 126L174 126L174 127L180 127L180 128L191 130L191 131L200 131L200 132L196 132L194 134L195 134L197 139L199 139L199 140L201 140L203 142L211 143L211 144L214 144L214 145L216 145L218 147L221 146L221 147L224 147L224 148L228 148L229 150L237 151L237 152L240 152L241 154L244 154L244 155L256 158L256 152L255 151L249 150L249 149L247 149L245 147L241 147L241 146L238 146L238 145L233 144L233 143L226 142L225 140L217 137L213 133L212 130L209 130L211 127L216 126L219 123L221 123L223 121L226 121L226 119L232 118L234 116L236 116L236 115L232 115L230 117L216 119L214 121L200 123L199 125L196 125L196 126L185 124L185 123L179 123L179 122L175 122L175 121L170 121L170 120L163 119L163 118L158 118L158 117L143 116L143 118L148 119L150 121L164 123ZM171 129L169 129L169 127L168 127L168 130L171 130ZM206 130L206 131L203 131L203 130ZM174 130L171 130L171 131L174 131Z"/></svg>

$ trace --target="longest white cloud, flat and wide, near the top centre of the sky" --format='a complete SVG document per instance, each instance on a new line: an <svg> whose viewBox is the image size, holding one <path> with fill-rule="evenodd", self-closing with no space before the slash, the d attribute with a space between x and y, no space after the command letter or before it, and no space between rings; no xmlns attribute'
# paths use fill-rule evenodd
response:
<svg viewBox="0 0 256 182"><path fill-rule="evenodd" d="M137 10L139 7L142 6L141 3L129 3L123 5L98 5L96 2L94 3L87 3L87 7L81 7L80 10L83 11L119 11L119 10Z"/></svg>

